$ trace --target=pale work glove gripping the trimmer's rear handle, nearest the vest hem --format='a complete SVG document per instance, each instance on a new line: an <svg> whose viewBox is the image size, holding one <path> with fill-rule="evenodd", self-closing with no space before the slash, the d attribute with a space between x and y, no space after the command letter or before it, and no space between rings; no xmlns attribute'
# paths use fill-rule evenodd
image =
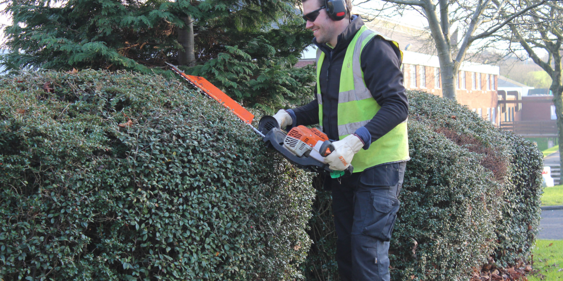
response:
<svg viewBox="0 0 563 281"><path fill-rule="evenodd" d="M364 146L364 142L354 134L348 135L346 138L337 140L332 144L334 151L327 155L327 157L324 157L324 160L330 165L330 170L333 171L346 170L350 166L354 155Z"/></svg>

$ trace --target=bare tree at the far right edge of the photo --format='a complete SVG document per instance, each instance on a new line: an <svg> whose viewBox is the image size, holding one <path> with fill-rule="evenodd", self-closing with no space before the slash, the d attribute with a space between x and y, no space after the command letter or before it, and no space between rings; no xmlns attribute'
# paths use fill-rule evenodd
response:
<svg viewBox="0 0 563 281"><path fill-rule="evenodd" d="M563 1L552 0L543 4L538 0L521 0L514 3L513 11L522 6L537 5L533 10L522 13L507 25L506 33L497 37L508 42L519 43L512 46L513 52L523 49L535 64L542 67L551 77L549 89L553 93L553 103L557 113L557 130L559 139L563 139L563 100L561 98L563 85L561 84L561 56L563 55ZM543 53L547 53L547 57ZM559 146L559 153L563 155L563 146ZM563 167L563 157L560 165Z"/></svg>

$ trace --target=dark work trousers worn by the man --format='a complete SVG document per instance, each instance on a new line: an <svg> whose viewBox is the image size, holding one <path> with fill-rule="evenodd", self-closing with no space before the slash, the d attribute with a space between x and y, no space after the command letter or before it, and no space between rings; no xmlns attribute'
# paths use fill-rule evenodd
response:
<svg viewBox="0 0 563 281"><path fill-rule="evenodd" d="M341 280L389 280L389 239L405 166L406 162L379 165L325 181L325 188L332 190Z"/></svg>

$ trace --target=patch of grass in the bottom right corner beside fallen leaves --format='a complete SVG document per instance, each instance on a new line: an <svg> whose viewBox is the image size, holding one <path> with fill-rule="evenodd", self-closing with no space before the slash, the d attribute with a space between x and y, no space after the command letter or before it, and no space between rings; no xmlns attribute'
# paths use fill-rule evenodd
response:
<svg viewBox="0 0 563 281"><path fill-rule="evenodd" d="M532 252L533 268L539 272L528 275L529 281L563 280L563 240L538 239Z"/></svg>

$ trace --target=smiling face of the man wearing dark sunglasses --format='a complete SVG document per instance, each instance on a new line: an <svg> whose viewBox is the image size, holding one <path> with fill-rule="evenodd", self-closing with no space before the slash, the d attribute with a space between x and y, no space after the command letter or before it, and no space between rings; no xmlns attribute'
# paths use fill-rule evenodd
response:
<svg viewBox="0 0 563 281"><path fill-rule="evenodd" d="M318 0L306 1L303 3L303 15L307 15L307 13L315 11L320 7ZM329 43L333 37L338 36L338 34L336 34L336 24L328 17L327 10L322 8L319 12L319 16L317 16L315 21L307 21L305 27L313 31L313 36L318 43Z"/></svg>

